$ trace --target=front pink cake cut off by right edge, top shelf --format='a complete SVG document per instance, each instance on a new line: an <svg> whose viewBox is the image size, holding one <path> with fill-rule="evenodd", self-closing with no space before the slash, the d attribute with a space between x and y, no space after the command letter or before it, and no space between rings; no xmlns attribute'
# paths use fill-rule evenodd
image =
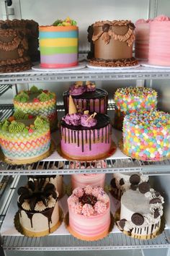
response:
<svg viewBox="0 0 170 256"><path fill-rule="evenodd" d="M150 25L148 63L170 66L170 18L156 17Z"/></svg>

